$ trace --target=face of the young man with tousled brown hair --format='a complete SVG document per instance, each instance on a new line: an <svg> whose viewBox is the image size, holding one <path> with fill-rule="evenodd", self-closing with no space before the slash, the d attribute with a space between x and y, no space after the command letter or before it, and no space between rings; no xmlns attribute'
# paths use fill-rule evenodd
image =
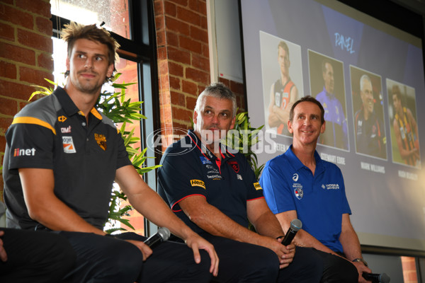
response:
<svg viewBox="0 0 425 283"><path fill-rule="evenodd" d="M74 88L98 94L106 76L113 73L113 64L108 63L108 47L92 40L76 40L71 57L67 58L67 69Z"/></svg>

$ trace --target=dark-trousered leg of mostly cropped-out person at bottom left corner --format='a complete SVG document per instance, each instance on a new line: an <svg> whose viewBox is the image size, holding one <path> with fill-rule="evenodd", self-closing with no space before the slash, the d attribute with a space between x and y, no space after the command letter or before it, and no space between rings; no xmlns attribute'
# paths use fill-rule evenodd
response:
<svg viewBox="0 0 425 283"><path fill-rule="evenodd" d="M0 282L61 282L75 253L66 238L45 231L0 228L8 260L0 260Z"/></svg>

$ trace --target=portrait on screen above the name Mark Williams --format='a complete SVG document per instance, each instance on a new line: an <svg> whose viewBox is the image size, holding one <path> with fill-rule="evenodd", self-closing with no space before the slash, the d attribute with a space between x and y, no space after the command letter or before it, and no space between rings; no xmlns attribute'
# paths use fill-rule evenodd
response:
<svg viewBox="0 0 425 283"><path fill-rule="evenodd" d="M382 80L363 69L350 66L356 153L387 159Z"/></svg>

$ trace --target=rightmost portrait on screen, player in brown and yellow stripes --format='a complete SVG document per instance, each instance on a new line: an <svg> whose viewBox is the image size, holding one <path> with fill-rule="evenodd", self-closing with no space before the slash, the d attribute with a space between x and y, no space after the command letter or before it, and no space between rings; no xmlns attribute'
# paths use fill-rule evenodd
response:
<svg viewBox="0 0 425 283"><path fill-rule="evenodd" d="M392 162L421 168L414 88L386 80Z"/></svg>

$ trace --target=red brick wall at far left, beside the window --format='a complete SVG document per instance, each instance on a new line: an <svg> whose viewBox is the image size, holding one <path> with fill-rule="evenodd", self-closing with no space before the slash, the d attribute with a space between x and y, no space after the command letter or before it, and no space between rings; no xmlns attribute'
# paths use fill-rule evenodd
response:
<svg viewBox="0 0 425 283"><path fill-rule="evenodd" d="M0 158L13 115L28 103L32 85L53 79L49 0L0 1ZM3 190L3 178L0 178ZM2 195L2 194L1 194Z"/></svg>

